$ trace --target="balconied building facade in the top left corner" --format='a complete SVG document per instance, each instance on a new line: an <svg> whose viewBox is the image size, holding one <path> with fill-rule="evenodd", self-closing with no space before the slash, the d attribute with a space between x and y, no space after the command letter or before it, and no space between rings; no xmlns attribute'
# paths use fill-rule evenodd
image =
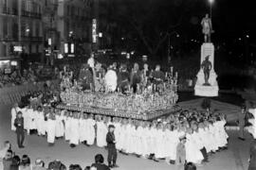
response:
<svg viewBox="0 0 256 170"><path fill-rule="evenodd" d="M40 59L43 52L41 0L0 0L0 59L20 54ZM22 52L15 51L22 46Z"/></svg>

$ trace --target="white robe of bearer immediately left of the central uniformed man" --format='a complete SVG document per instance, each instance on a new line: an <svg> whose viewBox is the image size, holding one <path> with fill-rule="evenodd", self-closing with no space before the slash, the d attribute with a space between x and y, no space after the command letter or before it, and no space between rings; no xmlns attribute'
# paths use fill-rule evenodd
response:
<svg viewBox="0 0 256 170"><path fill-rule="evenodd" d="M97 145L99 147L106 146L106 134L107 134L107 126L104 122L97 122Z"/></svg>

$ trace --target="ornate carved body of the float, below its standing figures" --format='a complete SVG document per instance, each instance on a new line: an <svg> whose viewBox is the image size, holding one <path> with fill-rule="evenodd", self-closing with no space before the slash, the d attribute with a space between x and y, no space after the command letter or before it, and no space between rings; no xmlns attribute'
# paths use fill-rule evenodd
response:
<svg viewBox="0 0 256 170"><path fill-rule="evenodd" d="M128 89L125 94L118 92L82 91L78 83L61 93L63 110L83 111L94 114L153 120L179 110L176 81L167 80L158 85L141 88L140 93Z"/></svg>

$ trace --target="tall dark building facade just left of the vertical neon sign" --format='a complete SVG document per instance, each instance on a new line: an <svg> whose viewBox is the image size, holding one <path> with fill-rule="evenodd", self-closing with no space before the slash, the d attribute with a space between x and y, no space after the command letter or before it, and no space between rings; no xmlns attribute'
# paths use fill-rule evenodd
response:
<svg viewBox="0 0 256 170"><path fill-rule="evenodd" d="M80 56L90 53L92 10L92 0L59 0L57 29L62 54Z"/></svg>

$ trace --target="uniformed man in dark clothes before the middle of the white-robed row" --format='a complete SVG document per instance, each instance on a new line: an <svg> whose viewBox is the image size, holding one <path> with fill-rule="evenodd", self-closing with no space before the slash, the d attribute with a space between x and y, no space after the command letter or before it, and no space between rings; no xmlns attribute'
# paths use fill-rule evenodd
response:
<svg viewBox="0 0 256 170"><path fill-rule="evenodd" d="M115 127L113 125L110 125L108 127L108 132L106 135L106 142L107 142L107 149L108 149L108 166L110 168L112 167L119 167L116 162L118 158L118 152L116 148L116 139L115 139L115 134L114 134ZM112 164L113 161L113 164Z"/></svg>

